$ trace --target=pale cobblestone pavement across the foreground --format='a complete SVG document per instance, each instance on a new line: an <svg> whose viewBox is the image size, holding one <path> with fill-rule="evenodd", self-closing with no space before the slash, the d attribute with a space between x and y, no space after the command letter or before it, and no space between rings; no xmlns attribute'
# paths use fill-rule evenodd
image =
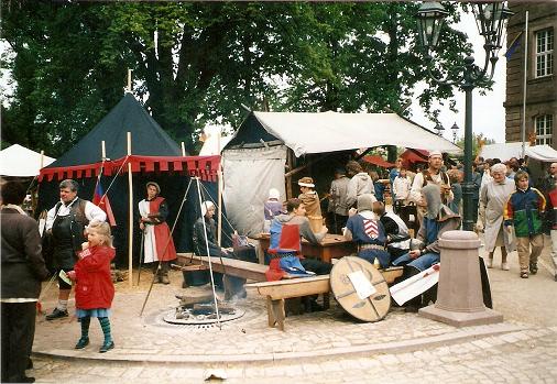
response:
<svg viewBox="0 0 557 384"><path fill-rule="evenodd" d="M544 260L548 262L547 252ZM163 316L177 305L174 295L195 296L207 287L182 289L182 276L174 272L173 284L154 286L145 315L139 317L149 288L145 273L140 287L130 288L127 282L117 286L114 350L98 353L101 331L96 321L91 344L76 351L75 319L48 322L40 317L34 369L28 375L41 383L200 383L211 374L227 383L555 383L557 283L544 267L527 281L518 278L515 253L510 263L510 272L490 270L494 309L505 321L461 329L397 308L382 321L356 322L334 305L326 312L288 317L281 332L267 327L264 300L251 294L237 303L242 318L220 330L171 326ZM47 310L55 294L52 289L44 299Z"/></svg>

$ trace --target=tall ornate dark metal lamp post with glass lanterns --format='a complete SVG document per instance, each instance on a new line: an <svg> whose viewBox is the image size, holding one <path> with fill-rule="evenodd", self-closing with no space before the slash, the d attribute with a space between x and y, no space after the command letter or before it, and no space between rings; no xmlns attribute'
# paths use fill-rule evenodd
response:
<svg viewBox="0 0 557 384"><path fill-rule="evenodd" d="M476 23L480 35L483 36L485 59L483 68L474 64L474 58L468 56L463 64L450 69L446 77L439 78L434 75L432 67L435 65L432 52L439 43L439 36L448 12L437 1L424 2L418 10L418 37L425 48L428 74L434 81L443 85L457 86L466 94L465 118L465 183L462 183L463 222L467 231L473 230L472 210L472 90L488 84L495 72L498 53L502 47L502 34L506 20L513 14L506 7L506 2L477 2L470 3L476 17ZM488 70L490 69L491 70ZM454 125L455 127L455 125ZM457 127L458 128L458 127Z"/></svg>

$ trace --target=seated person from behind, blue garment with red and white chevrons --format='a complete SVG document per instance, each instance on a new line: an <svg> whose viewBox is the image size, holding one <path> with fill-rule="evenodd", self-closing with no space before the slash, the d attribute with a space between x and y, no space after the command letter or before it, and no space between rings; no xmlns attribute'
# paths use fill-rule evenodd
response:
<svg viewBox="0 0 557 384"><path fill-rule="evenodd" d="M379 261L381 267L386 268L391 262L385 250L385 229L373 213L374 198L370 194L358 196L358 211L353 208L348 212L345 239L358 244L358 256L371 264Z"/></svg>

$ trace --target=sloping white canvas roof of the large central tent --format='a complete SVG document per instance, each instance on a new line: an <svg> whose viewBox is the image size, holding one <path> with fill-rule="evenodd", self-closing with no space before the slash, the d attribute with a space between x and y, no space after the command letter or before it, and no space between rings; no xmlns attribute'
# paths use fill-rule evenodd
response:
<svg viewBox="0 0 557 384"><path fill-rule="evenodd" d="M396 113L251 112L230 149L278 140L296 156L380 145L458 153L460 149Z"/></svg>

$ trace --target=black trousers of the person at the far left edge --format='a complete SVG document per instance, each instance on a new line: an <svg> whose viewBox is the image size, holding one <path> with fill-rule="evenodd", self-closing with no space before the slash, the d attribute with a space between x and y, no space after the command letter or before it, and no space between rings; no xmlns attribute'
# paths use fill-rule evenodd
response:
<svg viewBox="0 0 557 384"><path fill-rule="evenodd" d="M2 303L2 383L19 383L35 337L36 301Z"/></svg>

